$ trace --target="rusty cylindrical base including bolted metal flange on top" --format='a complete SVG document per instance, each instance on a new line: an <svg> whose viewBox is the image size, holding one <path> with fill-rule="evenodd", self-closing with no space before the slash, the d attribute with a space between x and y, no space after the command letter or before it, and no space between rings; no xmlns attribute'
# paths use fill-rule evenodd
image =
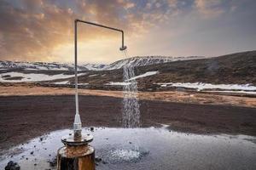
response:
<svg viewBox="0 0 256 170"><path fill-rule="evenodd" d="M58 170L95 170L95 150L89 143L92 135L74 133L64 136L61 142L65 146L58 150Z"/></svg>

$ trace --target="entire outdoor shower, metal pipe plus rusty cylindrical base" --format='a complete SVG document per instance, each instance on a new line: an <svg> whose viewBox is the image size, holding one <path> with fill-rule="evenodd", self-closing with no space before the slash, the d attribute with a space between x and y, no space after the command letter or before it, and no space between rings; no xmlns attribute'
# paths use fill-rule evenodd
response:
<svg viewBox="0 0 256 170"><path fill-rule="evenodd" d="M82 133L82 122L79 115L79 92L78 92L78 42L77 42L77 33L78 33L78 24L88 24L92 26L99 26L113 31L119 31L122 35L122 46L119 50L124 51L126 49L124 45L124 31L110 27L102 26L93 22L88 22L84 20L74 20L74 62L75 62L75 117L73 122L73 134L70 133L67 136L64 136L61 141L65 144L64 147L61 147L58 150L58 170L77 170L77 169L86 169L93 170L95 169L95 152L94 148L88 145L92 140L92 135Z"/></svg>

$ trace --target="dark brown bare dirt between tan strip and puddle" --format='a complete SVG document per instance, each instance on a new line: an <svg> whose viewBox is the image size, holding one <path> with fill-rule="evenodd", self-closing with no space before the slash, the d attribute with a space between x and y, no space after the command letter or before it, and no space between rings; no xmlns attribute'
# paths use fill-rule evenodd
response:
<svg viewBox="0 0 256 170"><path fill-rule="evenodd" d="M79 101L84 127L121 127L122 99L83 95ZM255 108L160 100L141 100L140 104L143 127L164 123L183 132L256 135ZM53 130L72 127L73 114L73 95L1 96L0 150Z"/></svg>

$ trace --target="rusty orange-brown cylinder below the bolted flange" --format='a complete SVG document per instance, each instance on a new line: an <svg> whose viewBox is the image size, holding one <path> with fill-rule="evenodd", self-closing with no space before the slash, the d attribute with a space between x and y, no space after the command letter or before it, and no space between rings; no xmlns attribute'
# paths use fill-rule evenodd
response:
<svg viewBox="0 0 256 170"><path fill-rule="evenodd" d="M90 145L64 146L58 150L58 170L95 170L95 150Z"/></svg>

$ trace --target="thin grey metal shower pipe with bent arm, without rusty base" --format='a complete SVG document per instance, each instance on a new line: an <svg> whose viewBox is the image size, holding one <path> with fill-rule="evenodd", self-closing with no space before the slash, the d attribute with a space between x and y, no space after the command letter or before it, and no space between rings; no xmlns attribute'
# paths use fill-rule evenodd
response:
<svg viewBox="0 0 256 170"><path fill-rule="evenodd" d="M82 123L80 120L80 116L79 116L79 92L78 92L78 46L77 46L77 31L78 31L78 23L84 23L84 24L88 24L88 25L92 25L92 26L99 26L102 28L106 28L109 30L113 30L113 31L119 31L122 33L122 46L119 48L119 50L123 51L126 49L125 47L125 38L124 38L124 31L119 30L117 28L113 28L110 26L103 26L100 24L96 24L93 22L89 22L89 21L85 21L85 20L74 20L74 57L75 57L75 104L76 104L76 114L75 114L75 119L74 119L74 123L73 123L73 130L74 130L74 136L75 137L80 137L81 136L81 130L82 130Z"/></svg>

